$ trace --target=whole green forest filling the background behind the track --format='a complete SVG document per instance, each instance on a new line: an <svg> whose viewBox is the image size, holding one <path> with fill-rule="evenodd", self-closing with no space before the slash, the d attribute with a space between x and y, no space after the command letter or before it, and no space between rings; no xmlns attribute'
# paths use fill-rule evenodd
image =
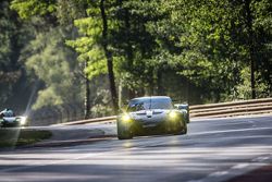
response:
<svg viewBox="0 0 272 182"><path fill-rule="evenodd" d="M270 0L1 0L0 106L85 118L272 96Z"/></svg>

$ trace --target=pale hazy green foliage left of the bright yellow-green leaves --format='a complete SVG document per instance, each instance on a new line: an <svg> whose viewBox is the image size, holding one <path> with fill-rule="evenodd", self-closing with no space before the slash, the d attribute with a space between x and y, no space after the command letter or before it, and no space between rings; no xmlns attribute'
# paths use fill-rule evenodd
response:
<svg viewBox="0 0 272 182"><path fill-rule="evenodd" d="M75 56L63 44L65 37L63 29L51 29L47 34L38 34L25 48L25 52L30 52L26 58L26 68L46 84L46 88L38 93L35 109L82 99L82 87L75 85L78 81L74 80Z"/></svg>

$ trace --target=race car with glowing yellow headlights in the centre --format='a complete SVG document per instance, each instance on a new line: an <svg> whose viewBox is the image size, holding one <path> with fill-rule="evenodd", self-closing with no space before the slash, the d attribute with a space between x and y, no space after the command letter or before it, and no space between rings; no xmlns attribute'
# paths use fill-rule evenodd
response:
<svg viewBox="0 0 272 182"><path fill-rule="evenodd" d="M166 96L134 98L118 116L119 139L149 134L186 134L187 112L175 109Z"/></svg>

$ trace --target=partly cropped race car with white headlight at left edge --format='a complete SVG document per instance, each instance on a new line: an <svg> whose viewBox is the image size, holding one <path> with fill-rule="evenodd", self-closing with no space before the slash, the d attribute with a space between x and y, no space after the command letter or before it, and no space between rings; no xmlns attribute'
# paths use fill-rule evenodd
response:
<svg viewBox="0 0 272 182"><path fill-rule="evenodd" d="M15 117L11 109L4 109L0 112L0 126L24 126L26 125L26 117Z"/></svg>

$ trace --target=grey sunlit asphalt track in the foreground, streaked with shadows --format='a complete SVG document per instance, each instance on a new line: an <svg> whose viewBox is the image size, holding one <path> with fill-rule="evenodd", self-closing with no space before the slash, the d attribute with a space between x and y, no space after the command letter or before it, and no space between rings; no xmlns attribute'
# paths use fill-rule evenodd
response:
<svg viewBox="0 0 272 182"><path fill-rule="evenodd" d="M212 119L187 135L0 151L0 181L215 182L268 163L272 117Z"/></svg>

